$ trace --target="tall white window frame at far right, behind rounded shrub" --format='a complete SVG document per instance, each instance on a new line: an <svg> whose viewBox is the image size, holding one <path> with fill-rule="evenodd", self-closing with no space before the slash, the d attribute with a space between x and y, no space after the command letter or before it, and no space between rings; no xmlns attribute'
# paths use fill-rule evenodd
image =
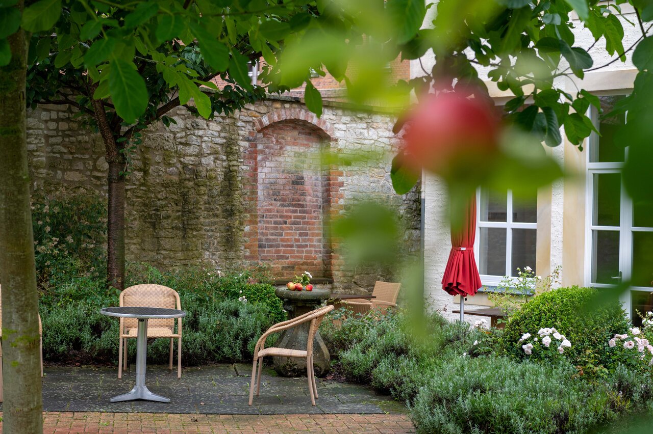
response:
<svg viewBox="0 0 653 434"><path fill-rule="evenodd" d="M601 93L597 96L619 96L625 93ZM588 109L588 116L596 126L598 123L599 113L594 106ZM594 203L594 175L601 173L621 173L624 162L628 158L628 147L624 149L624 162L590 162L590 154L594 151L599 140L598 134L592 132L588 137L588 145L585 155L585 258L584 258L584 285L595 288L614 287L609 283L592 282L592 260L594 256L594 239L592 233L596 230L617 231L619 233L619 275L614 276L614 283L620 280L630 280L633 271L633 232L653 232L653 227L633 227L633 201L629 197L624 182L621 183L620 191L620 209L619 225L603 226L594 225L593 217L597 204ZM628 317L632 318L632 291L653 292L652 287L630 287L620 295L620 301L623 303L624 310Z"/></svg>

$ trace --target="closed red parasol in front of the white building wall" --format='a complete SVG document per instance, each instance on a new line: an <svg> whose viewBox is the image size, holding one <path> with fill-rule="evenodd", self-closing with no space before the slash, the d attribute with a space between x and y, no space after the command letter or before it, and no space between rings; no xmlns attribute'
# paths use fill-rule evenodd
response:
<svg viewBox="0 0 653 434"><path fill-rule="evenodd" d="M464 298L475 295L482 286L474 257L476 237L476 197L472 197L465 221L457 230L451 230L451 253L442 277L442 289L451 295L460 295L460 321L463 318Z"/></svg>

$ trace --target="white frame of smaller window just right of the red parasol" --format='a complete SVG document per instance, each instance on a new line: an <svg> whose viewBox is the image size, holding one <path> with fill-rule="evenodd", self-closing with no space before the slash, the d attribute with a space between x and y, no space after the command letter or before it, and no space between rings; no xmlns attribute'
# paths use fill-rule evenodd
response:
<svg viewBox="0 0 653 434"><path fill-rule="evenodd" d="M476 265L480 267L481 255L481 227L498 227L506 229L505 231L505 274L503 276L494 276L492 274L479 274L481 276L481 283L484 286L496 287L505 276L510 277L513 261L513 229L536 229L537 230L537 217L534 223L521 223L513 222L513 192L508 190L506 202L506 218L505 222L483 222L481 220L481 188L476 190L476 237L474 240L474 256L476 257ZM535 254L537 255L537 242L535 242ZM535 267L535 264L532 265Z"/></svg>

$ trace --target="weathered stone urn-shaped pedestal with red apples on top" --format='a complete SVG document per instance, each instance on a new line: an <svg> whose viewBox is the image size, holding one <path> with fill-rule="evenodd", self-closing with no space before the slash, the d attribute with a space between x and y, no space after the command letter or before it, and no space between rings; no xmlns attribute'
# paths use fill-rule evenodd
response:
<svg viewBox="0 0 653 434"><path fill-rule="evenodd" d="M278 288L274 293L283 300L283 309L288 312L288 318L293 319L306 312L318 308L323 300L331 296L330 289L313 289L313 291L290 291L289 289ZM298 349L306 351L308 340L308 328L310 322L283 330L276 347ZM272 357L274 370L283 377L299 377L306 375L306 359L293 357ZM313 367L315 375L321 377L330 368L331 358L328 354L327 345L322 340L320 333L315 334L313 339Z"/></svg>

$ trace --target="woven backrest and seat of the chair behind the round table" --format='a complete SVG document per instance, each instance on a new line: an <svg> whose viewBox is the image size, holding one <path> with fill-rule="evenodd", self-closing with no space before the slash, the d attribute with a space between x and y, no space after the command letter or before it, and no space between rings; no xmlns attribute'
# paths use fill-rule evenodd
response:
<svg viewBox="0 0 653 434"><path fill-rule="evenodd" d="M181 309L179 294L172 288L163 285L143 283L125 288L120 293L120 306L138 308ZM138 319L125 318L125 328L138 326ZM150 319L148 327L174 327L174 318Z"/></svg>

